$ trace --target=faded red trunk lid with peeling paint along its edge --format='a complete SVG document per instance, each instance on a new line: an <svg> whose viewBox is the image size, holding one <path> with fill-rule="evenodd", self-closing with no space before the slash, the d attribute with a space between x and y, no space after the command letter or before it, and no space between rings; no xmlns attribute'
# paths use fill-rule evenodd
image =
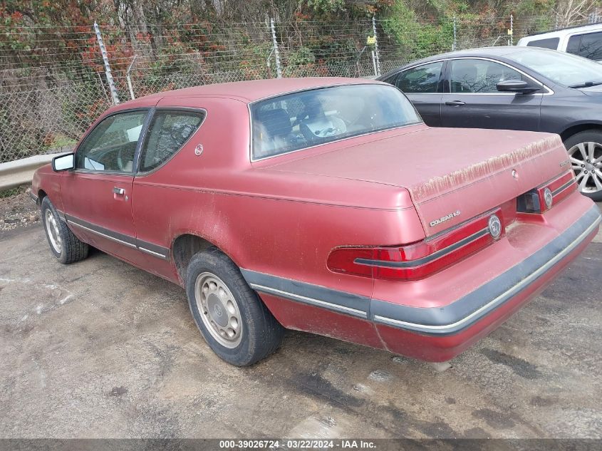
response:
<svg viewBox="0 0 602 451"><path fill-rule="evenodd" d="M558 135L422 128L298 152L270 170L393 185L410 192L426 236L516 199L569 169Z"/></svg>

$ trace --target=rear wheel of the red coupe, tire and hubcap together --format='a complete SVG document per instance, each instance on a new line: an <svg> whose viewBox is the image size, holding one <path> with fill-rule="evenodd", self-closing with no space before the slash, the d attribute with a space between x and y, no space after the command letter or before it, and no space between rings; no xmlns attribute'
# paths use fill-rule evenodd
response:
<svg viewBox="0 0 602 451"><path fill-rule="evenodd" d="M212 351L234 366L249 366L276 351L284 328L246 284L238 266L216 247L188 264L190 312Z"/></svg>

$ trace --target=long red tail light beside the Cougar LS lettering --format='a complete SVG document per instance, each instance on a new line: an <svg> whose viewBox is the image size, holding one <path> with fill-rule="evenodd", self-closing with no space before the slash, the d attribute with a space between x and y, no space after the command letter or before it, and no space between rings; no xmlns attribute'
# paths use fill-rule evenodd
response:
<svg viewBox="0 0 602 451"><path fill-rule="evenodd" d="M504 234L500 209L420 242L395 247L339 247L328 269L374 279L423 279L483 249Z"/></svg>

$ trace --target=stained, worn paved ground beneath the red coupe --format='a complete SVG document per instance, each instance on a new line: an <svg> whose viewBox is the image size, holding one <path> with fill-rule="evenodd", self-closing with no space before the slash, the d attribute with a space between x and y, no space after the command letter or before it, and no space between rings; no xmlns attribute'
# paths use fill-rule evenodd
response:
<svg viewBox="0 0 602 451"><path fill-rule="evenodd" d="M0 437L602 437L602 236L439 373L290 331L219 360L180 287L100 252L0 232Z"/></svg>

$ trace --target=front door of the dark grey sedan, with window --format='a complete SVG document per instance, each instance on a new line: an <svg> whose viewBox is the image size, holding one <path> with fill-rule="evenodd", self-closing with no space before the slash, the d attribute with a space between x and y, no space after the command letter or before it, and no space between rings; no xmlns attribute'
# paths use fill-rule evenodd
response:
<svg viewBox="0 0 602 451"><path fill-rule="evenodd" d="M445 93L442 95L443 127L539 130L541 97L536 93L502 93L497 83L524 80L540 86L531 77L507 64L483 58L457 58L447 62Z"/></svg>

